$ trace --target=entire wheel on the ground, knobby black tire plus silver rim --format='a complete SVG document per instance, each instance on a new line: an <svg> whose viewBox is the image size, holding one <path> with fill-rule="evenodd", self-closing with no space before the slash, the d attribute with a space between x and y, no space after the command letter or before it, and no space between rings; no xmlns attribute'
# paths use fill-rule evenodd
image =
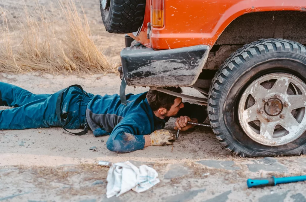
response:
<svg viewBox="0 0 306 202"><path fill-rule="evenodd" d="M297 42L263 39L244 45L221 65L208 94L208 113L217 139L227 150L241 157L306 154L306 124L304 124L306 102L297 99L301 100L299 102L301 106L298 108L300 111L297 111L298 109L291 111L284 107L288 105L290 108L290 103L285 104L287 102L285 99L292 93L306 99L305 53L306 48ZM264 85L266 89L269 86L274 89L275 83L283 78L277 77L279 75L295 80L284 84L283 90L279 90L282 91L280 93L274 94L273 90L259 92ZM255 85L254 82L258 84ZM250 88L254 87L252 85L255 88ZM257 92L258 96L253 96L250 92ZM272 105L267 106L268 101L269 103L273 101L275 104L273 107L276 108L271 108ZM292 101L293 103L295 102ZM254 110L248 111L247 109L252 106ZM270 109L272 111L269 111ZM248 114L242 116L242 113ZM245 120L249 117L254 117L254 120ZM297 123L292 123L297 125L296 129L287 128L287 125L282 124L285 122L280 117L287 117L290 120L295 118ZM276 124L272 126L274 130L270 127L270 133L262 133L263 122ZM287 136L286 140L280 140L290 132L292 132L291 139Z"/></svg>

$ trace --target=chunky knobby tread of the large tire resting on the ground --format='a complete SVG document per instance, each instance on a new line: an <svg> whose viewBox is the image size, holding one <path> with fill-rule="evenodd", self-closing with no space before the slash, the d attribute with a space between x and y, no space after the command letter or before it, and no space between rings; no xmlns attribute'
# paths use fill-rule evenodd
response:
<svg viewBox="0 0 306 202"><path fill-rule="evenodd" d="M289 49L286 48L286 43L289 44L288 46ZM295 45L297 46L297 48L294 48ZM264 51L261 52L258 46L263 46ZM231 76L232 74L235 73L235 71L238 70L240 65L239 63L237 63L237 61L240 60L242 64L247 62L247 60L243 58L243 54L247 54L250 57L250 59L253 59L258 57L259 55L267 54L272 51L278 51L279 48L281 48L281 51L291 51L296 53L302 53L303 55L305 55L306 52L306 49L302 44L295 41L284 40L284 39L263 39L255 41L251 44L245 44L243 47L239 48L236 52L232 53L229 58L226 59L226 61L218 69L215 77L211 82L210 91L208 93L208 117L211 122L212 129L217 139L228 151L231 151L235 155L240 156L242 158L245 157L251 158L255 156L244 153L241 150L241 148L234 147L230 143L230 141L226 139L226 136L223 134L223 131L219 126L220 120L218 116L218 111L219 111L218 104L220 101L222 90L224 89L226 83L228 82L229 76ZM304 50L305 52L303 52ZM252 52L254 51L256 52L256 55L252 54ZM228 76L225 76L224 73L222 73L224 71ZM222 79L220 79L220 77ZM294 155L300 155L300 154L306 154L306 149L302 149L298 154Z"/></svg>

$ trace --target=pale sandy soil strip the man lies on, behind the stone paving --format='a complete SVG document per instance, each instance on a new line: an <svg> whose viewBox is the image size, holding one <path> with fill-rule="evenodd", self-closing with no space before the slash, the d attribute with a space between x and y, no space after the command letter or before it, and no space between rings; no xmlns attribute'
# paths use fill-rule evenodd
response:
<svg viewBox="0 0 306 202"><path fill-rule="evenodd" d="M2 74L0 81L9 82L23 87L32 93L54 93L72 84L80 84L84 90L94 94L114 94L119 92L120 78L116 75L88 75L84 78L78 76L51 76L35 74L7 75ZM126 93L141 93L146 88L128 87ZM187 88L185 92L197 93ZM190 91L191 90L191 91ZM192 94L192 93L191 93ZM166 129L173 130L174 119L166 125ZM201 130L201 131L200 131ZM107 136L94 138L92 131L87 135L78 137L64 132L61 128L30 129L24 131L1 131L0 153L1 165L12 165L12 159L18 158L16 164L58 166L70 163L96 162L109 160L123 161L126 158L135 161L184 161L202 158L222 158L230 156L217 141L215 135L207 128L196 128L192 131L182 132L180 138L172 146L148 147L143 151L130 154L116 154L106 149ZM103 141L103 143L101 142ZM23 143L22 143L23 142ZM69 142L69 143L68 143ZM24 144L24 146L19 146ZM97 152L89 150L96 146ZM5 147L2 150L2 147ZM85 152L84 152L85 151ZM172 151L172 152L171 152Z"/></svg>

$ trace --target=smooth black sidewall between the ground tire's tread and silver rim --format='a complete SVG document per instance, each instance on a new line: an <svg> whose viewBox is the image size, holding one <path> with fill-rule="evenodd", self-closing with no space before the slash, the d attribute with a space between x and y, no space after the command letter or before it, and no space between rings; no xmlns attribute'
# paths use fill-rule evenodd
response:
<svg viewBox="0 0 306 202"><path fill-rule="evenodd" d="M249 138L238 119L238 103L247 86L265 74L283 72L306 81L306 57L295 52L268 52L243 63L233 72L221 92L218 105L219 124L226 139L248 156L299 154L306 147L306 133L282 146L265 146Z"/></svg>

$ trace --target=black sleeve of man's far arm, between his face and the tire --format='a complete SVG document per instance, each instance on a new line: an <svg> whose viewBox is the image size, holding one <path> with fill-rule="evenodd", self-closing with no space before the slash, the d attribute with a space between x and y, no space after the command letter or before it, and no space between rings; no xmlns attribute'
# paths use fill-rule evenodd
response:
<svg viewBox="0 0 306 202"><path fill-rule="evenodd" d="M204 106L184 102L184 108L182 108L175 117L180 116L188 116L192 119L196 118L199 123L203 123L207 117L207 112Z"/></svg>

